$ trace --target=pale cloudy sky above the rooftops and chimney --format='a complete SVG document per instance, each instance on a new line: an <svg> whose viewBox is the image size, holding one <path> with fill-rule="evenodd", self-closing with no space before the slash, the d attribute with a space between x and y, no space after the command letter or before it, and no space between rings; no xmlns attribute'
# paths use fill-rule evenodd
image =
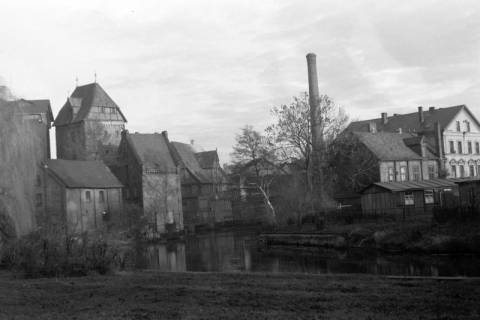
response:
<svg viewBox="0 0 480 320"><path fill-rule="evenodd" d="M308 91L352 119L467 104L480 115L479 1L21 1L0 4L0 82L54 115L94 81L130 132L229 160L246 124Z"/></svg>

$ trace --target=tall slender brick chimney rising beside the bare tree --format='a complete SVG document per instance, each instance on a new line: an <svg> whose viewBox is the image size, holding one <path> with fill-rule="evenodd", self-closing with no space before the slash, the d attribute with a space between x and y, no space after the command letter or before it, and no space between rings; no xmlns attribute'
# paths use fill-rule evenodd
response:
<svg viewBox="0 0 480 320"><path fill-rule="evenodd" d="M325 193L323 190L323 154L325 144L322 132L322 117L320 114L320 94L318 91L317 57L314 53L307 54L308 93L310 103L310 130L312 133L312 192L314 198L324 207ZM319 208L319 209L320 209Z"/></svg>

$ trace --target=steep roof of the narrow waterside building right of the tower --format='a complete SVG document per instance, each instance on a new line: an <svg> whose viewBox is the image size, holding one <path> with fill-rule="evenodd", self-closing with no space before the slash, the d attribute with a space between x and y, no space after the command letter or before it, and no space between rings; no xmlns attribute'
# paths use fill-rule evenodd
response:
<svg viewBox="0 0 480 320"><path fill-rule="evenodd" d="M177 172L169 142L162 134L126 133L125 137L144 168L166 173Z"/></svg>

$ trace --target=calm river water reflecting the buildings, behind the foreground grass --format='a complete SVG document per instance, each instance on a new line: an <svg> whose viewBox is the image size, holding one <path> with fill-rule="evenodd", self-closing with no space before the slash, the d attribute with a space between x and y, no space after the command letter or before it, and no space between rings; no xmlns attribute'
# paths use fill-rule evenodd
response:
<svg viewBox="0 0 480 320"><path fill-rule="evenodd" d="M377 252L257 247L254 234L209 233L137 248L135 266L161 271L368 273L480 276L478 255L382 255Z"/></svg>

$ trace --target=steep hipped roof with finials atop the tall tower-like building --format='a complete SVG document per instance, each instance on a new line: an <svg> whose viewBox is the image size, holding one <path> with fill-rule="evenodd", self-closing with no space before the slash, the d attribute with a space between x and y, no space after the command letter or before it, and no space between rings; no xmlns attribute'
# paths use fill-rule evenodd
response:
<svg viewBox="0 0 480 320"><path fill-rule="evenodd" d="M90 83L75 88L72 95L67 99L65 105L58 113L54 125L61 126L83 121L87 119L90 109L98 106L115 108L120 115L118 120L127 122L118 105L110 98L105 90L103 90L98 83ZM74 114L73 108L79 108L76 114Z"/></svg>

